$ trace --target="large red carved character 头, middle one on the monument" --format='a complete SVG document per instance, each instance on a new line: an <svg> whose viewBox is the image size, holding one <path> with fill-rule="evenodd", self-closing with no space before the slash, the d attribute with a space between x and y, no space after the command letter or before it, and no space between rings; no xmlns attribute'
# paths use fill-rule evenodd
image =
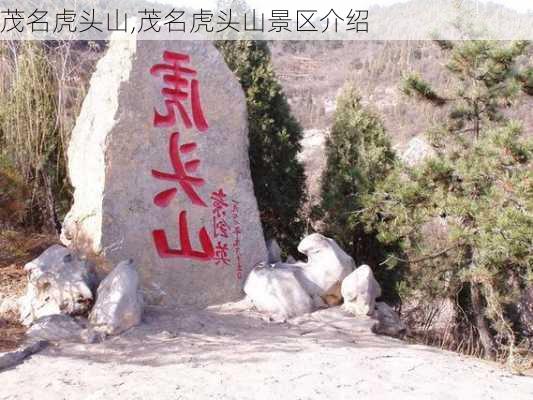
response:
<svg viewBox="0 0 533 400"><path fill-rule="evenodd" d="M200 160L195 159L184 163L181 159L181 154L188 154L196 149L196 143L187 143L180 146L179 137L179 132L174 132L170 136L169 157L174 172L168 173L152 170L152 176L156 179L178 183L193 204L207 207L195 190L195 187L203 186L205 181L202 178L189 175L198 169ZM159 207L167 207L177 191L176 188L171 188L159 193L155 196L154 203Z"/></svg>

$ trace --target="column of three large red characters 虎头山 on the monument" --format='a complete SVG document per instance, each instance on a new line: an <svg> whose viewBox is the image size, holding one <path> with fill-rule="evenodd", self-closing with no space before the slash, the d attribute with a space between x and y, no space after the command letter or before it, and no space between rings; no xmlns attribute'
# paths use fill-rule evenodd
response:
<svg viewBox="0 0 533 400"><path fill-rule="evenodd" d="M165 101L165 113L154 110L153 124L157 128L171 127L176 124L176 115L179 113L183 125L189 129L194 127L205 132L208 129L207 121L204 117L200 102L200 84L196 77L196 71L186 67L190 62L190 57L186 54L165 51L163 54L164 63L154 65L150 72L154 76L162 76L166 86L161 90ZM187 104L190 104L191 113L188 112ZM177 110L177 113L176 113ZM172 171L162 172L152 170L155 179L173 182L175 187L170 187L155 195L153 201L158 207L168 207L170 202L181 188L189 202L195 206L207 207L200 197L199 188L204 186L204 179L196 175L200 166L200 160L185 159L187 155L197 148L195 142L180 145L180 133L173 132L169 138L168 153ZM166 232L163 229L152 231L152 238L157 254L161 258L188 258L199 261L220 260L224 262L227 258L227 246L218 242L216 248L205 227L198 231L198 241L200 249L194 249L189 236L189 224L187 212L180 211L178 215L179 245L170 247Z"/></svg>

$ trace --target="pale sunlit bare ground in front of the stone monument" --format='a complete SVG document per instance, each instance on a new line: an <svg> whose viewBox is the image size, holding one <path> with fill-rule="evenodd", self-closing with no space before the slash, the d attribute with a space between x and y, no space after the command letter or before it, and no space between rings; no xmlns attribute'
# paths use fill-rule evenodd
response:
<svg viewBox="0 0 533 400"><path fill-rule="evenodd" d="M0 373L0 399L533 399L533 378L369 327L336 309L283 325L234 305L150 309L122 337Z"/></svg>

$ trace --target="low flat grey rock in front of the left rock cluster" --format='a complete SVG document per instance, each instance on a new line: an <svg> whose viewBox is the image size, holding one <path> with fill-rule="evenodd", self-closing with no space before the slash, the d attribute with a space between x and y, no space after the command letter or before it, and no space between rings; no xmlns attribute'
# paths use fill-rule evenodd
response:
<svg viewBox="0 0 533 400"><path fill-rule="evenodd" d="M80 342L83 326L69 315L48 315L34 321L26 332L31 339L48 342Z"/></svg>

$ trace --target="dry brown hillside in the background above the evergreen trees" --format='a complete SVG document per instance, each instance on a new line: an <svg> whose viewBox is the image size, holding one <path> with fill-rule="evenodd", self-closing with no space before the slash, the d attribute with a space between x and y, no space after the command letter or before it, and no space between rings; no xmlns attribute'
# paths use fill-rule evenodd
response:
<svg viewBox="0 0 533 400"><path fill-rule="evenodd" d="M436 122L440 113L405 97L400 90L402 75L417 71L439 89L449 84L444 57L430 41L273 42L272 53L304 129L331 125L336 95L351 79L363 101L382 115L394 144L404 144ZM523 100L511 114L529 130L532 106L532 100Z"/></svg>

